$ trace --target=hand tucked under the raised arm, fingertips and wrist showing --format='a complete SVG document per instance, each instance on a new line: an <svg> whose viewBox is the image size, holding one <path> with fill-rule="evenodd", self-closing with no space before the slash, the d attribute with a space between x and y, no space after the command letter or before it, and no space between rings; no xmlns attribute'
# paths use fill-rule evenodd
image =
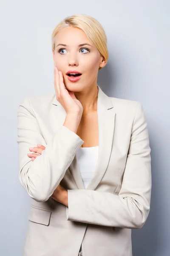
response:
<svg viewBox="0 0 170 256"><path fill-rule="evenodd" d="M45 150L45 146L37 144L37 147L29 148L29 151L33 151L33 153L29 152L28 157L30 157L31 160L34 161L35 158L42 154L43 150ZM68 206L68 192L66 189L63 189L60 184L54 190L51 198L61 204L64 204L65 206Z"/></svg>

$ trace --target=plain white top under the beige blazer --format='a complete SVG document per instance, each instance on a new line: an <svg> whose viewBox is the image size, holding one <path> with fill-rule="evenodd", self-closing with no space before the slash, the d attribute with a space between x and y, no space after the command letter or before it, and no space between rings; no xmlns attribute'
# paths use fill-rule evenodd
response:
<svg viewBox="0 0 170 256"><path fill-rule="evenodd" d="M96 163L98 159L99 146L89 148L79 148L76 156L79 163L79 169L82 175L82 181L85 189L88 186L92 176L96 169Z"/></svg>

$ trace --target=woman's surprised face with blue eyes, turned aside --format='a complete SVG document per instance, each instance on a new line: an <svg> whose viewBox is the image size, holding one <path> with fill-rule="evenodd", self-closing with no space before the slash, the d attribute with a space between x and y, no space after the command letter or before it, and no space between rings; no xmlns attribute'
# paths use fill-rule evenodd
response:
<svg viewBox="0 0 170 256"><path fill-rule="evenodd" d="M85 32L75 27L63 28L57 33L53 58L54 65L63 74L65 87L73 92L83 91L96 85L99 67L104 67L106 64ZM77 81L70 81L69 79L74 76L69 77L66 73L74 70L82 75Z"/></svg>

